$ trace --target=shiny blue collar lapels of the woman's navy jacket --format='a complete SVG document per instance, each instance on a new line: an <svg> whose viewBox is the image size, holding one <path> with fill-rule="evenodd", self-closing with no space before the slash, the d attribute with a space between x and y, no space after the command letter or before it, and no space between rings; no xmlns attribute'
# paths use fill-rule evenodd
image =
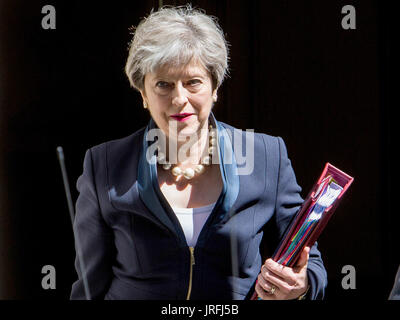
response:
<svg viewBox="0 0 400 320"><path fill-rule="evenodd" d="M239 176L233 152L232 134L229 134L228 129L215 119L213 113L210 114L209 121L217 129L219 165L223 188L205 227L215 221L214 219L221 221L230 216L233 204L239 193ZM149 211L185 243L182 228L158 185L156 155L149 155L149 161L146 157L149 146L154 143L153 141L147 141L146 137L149 130L153 128L157 128L157 126L154 120L150 119L143 135L143 145L138 165L137 182L139 196ZM200 240L199 238L199 242Z"/></svg>

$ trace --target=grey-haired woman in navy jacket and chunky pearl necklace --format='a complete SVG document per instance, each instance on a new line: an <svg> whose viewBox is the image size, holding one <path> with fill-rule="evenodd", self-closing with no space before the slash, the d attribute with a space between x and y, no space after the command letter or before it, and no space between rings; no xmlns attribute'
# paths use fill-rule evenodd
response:
<svg viewBox="0 0 400 320"><path fill-rule="evenodd" d="M301 189L281 138L212 114L227 61L216 21L190 6L152 12L136 28L125 70L151 119L86 153L74 225L85 269L77 257L72 299L85 299L85 283L92 299L323 297L316 246L294 268L262 256Z"/></svg>

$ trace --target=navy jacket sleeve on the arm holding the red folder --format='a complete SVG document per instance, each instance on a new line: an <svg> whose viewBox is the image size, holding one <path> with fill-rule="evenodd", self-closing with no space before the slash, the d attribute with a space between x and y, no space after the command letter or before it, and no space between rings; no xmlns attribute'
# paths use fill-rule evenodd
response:
<svg viewBox="0 0 400 320"><path fill-rule="evenodd" d="M300 196L301 188L297 184L285 143L280 137L278 137L278 141L280 165L276 196L276 225L279 229L279 235L282 237L293 216L299 210L303 199ZM307 267L310 285L308 297L313 300L323 299L327 285L327 273L317 246L317 243L315 243L310 250Z"/></svg>

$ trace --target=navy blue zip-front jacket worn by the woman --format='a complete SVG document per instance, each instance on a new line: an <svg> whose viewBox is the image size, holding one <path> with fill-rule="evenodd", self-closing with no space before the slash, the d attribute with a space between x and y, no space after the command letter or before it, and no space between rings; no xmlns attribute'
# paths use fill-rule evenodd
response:
<svg viewBox="0 0 400 320"><path fill-rule="evenodd" d="M254 135L254 170L238 174L234 128L218 129L221 195L194 248L160 191L155 157L146 161L146 128L89 149L77 188L74 222L92 299L248 299L262 263L302 203L283 140ZM235 129L237 130L237 129ZM244 131L241 133L243 143ZM236 144L235 144L236 146ZM244 149L244 147L242 148ZM231 159L232 160L232 159ZM85 299L82 273L71 299ZM308 264L309 297L322 299L326 271L317 245ZM192 279L192 281L190 281ZM190 284L189 284L190 282Z"/></svg>

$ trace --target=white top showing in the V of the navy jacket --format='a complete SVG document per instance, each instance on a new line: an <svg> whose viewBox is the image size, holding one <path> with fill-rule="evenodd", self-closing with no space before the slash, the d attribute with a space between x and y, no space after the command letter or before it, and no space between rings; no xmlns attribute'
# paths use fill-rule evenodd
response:
<svg viewBox="0 0 400 320"><path fill-rule="evenodd" d="M200 231L214 206L215 202L199 208L172 207L185 233L186 242L189 247L194 247L196 245Z"/></svg>

